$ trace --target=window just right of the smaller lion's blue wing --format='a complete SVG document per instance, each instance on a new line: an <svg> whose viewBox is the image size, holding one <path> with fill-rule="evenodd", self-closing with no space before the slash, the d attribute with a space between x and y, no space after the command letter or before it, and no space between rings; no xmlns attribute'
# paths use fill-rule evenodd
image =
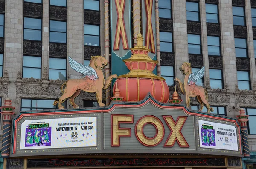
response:
<svg viewBox="0 0 256 169"><path fill-rule="evenodd" d="M210 71L210 85L212 89L222 89L222 70L209 69Z"/></svg>

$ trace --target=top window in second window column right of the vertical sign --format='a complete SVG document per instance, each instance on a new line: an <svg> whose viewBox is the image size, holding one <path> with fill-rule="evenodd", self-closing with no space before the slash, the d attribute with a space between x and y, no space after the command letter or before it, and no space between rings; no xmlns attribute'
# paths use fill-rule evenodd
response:
<svg viewBox="0 0 256 169"><path fill-rule="evenodd" d="M194 2L186 2L187 20L199 21L199 4Z"/></svg>

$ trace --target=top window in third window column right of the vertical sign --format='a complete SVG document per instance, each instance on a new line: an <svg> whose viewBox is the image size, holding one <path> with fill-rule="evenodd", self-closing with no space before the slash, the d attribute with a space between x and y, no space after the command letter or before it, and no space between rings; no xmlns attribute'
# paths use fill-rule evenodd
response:
<svg viewBox="0 0 256 169"><path fill-rule="evenodd" d="M206 3L205 11L206 11L206 22L218 23L218 5Z"/></svg>

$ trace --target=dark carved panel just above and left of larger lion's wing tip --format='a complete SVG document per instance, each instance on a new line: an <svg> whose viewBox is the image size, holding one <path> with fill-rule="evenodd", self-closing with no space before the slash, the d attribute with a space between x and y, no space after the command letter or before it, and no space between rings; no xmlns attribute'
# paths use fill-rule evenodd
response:
<svg viewBox="0 0 256 169"><path fill-rule="evenodd" d="M50 43L49 56L67 58L67 44L66 43Z"/></svg>

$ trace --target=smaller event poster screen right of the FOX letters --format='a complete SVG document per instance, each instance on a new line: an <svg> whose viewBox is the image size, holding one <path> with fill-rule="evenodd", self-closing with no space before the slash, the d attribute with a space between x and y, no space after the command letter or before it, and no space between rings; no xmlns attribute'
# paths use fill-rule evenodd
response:
<svg viewBox="0 0 256 169"><path fill-rule="evenodd" d="M200 147L238 151L236 127L198 120Z"/></svg>

